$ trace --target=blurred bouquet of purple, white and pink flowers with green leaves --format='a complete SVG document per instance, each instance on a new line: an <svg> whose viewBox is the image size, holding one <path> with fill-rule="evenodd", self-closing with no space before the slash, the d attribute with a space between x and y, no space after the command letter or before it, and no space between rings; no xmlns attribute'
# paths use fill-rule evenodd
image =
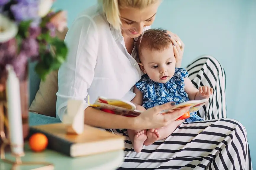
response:
<svg viewBox="0 0 256 170"><path fill-rule="evenodd" d="M27 78L29 61L44 80L66 60L67 46L55 31L67 27L67 12L54 12L55 0L0 0L0 79L11 64L19 79Z"/></svg>

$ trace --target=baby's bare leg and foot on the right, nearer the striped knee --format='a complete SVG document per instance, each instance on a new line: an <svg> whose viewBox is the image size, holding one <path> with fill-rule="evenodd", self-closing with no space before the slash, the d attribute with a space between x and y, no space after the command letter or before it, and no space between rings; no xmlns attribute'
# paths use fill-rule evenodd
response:
<svg viewBox="0 0 256 170"><path fill-rule="evenodd" d="M165 126L163 128L158 128L158 129L149 129L147 131L147 140L144 142L145 146L151 145L152 143L167 138L170 136L171 133L185 120L181 121L174 121L168 126Z"/></svg>

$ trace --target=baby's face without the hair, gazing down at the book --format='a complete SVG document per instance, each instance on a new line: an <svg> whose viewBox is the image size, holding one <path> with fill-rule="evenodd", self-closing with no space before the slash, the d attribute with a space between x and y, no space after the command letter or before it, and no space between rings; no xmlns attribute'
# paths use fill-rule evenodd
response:
<svg viewBox="0 0 256 170"><path fill-rule="evenodd" d="M163 51L142 49L140 58L141 69L151 80L166 83L174 75L176 61L172 44Z"/></svg>

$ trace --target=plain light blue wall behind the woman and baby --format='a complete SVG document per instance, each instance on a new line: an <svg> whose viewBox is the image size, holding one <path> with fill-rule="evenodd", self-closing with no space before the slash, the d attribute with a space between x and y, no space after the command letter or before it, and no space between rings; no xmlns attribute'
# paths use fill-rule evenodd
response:
<svg viewBox="0 0 256 170"><path fill-rule="evenodd" d="M58 0L55 6L68 11L70 26L78 12L95 2ZM203 54L213 55L222 63L226 71L228 117L246 127L256 167L256 1L165 0L152 27L168 29L183 40L183 66Z"/></svg>

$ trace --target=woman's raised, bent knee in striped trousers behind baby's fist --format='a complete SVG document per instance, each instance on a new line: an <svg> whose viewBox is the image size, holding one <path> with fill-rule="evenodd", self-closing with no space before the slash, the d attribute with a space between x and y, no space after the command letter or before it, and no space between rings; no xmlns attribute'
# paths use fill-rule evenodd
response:
<svg viewBox="0 0 256 170"><path fill-rule="evenodd" d="M226 118L226 75L221 64L212 56L197 58L187 66L189 79L199 88L208 85L214 89L209 103L203 106L197 114L204 120Z"/></svg>

